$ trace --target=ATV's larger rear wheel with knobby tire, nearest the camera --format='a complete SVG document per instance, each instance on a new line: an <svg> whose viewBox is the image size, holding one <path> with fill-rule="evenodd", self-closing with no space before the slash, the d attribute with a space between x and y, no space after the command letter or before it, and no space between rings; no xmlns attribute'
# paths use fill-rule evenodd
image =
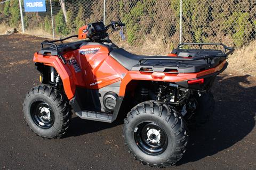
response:
<svg viewBox="0 0 256 170"><path fill-rule="evenodd" d="M166 167L178 162L186 151L185 123L169 106L146 101L127 114L125 144L142 164Z"/></svg>

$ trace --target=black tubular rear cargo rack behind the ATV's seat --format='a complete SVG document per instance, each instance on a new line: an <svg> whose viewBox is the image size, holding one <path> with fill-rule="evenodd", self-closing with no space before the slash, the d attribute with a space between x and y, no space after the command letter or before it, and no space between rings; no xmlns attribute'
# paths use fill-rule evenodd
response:
<svg viewBox="0 0 256 170"><path fill-rule="evenodd" d="M211 64L212 58L215 57L224 57L227 58L230 54L234 53L234 48L233 47L228 47L222 43L181 43L178 45L177 50L181 49L182 46L184 45L198 45L198 46L203 46L203 45L213 45L213 46L222 46L223 50L221 54L215 54L215 55L204 55L204 56L195 56L195 57L173 57L173 56L166 56L162 58L155 58L155 57L145 57L139 60L139 66L143 63L145 63L147 60L175 60L175 61L195 61L195 60L206 60L207 64ZM202 48L201 48L202 49ZM188 49L189 50L189 49ZM206 49L205 49L206 50ZM209 49L211 50L211 49ZM228 53L227 50L229 50Z"/></svg>

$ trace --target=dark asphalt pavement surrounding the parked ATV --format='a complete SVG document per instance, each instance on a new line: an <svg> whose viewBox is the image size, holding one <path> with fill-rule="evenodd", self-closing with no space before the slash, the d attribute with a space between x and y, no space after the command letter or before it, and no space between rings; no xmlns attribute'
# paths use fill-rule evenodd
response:
<svg viewBox="0 0 256 170"><path fill-rule="evenodd" d="M26 92L38 84L33 54L44 38L0 36L0 169L155 169L134 160L124 146L123 121L113 124L73 116L62 139L41 139L22 115ZM165 169L255 169L256 77L223 72L212 92L215 112L190 131L178 165Z"/></svg>

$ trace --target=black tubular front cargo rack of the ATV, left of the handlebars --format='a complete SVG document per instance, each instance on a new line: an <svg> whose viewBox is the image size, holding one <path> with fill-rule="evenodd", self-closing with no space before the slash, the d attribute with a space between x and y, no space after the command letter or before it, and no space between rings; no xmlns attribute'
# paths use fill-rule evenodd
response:
<svg viewBox="0 0 256 170"><path fill-rule="evenodd" d="M63 41L69 39L69 38L73 38L73 37L78 37L78 35L74 35L74 36L69 36L67 38L63 38L63 39L58 39L58 40L53 40L53 41L49 41L49 40L45 40L41 43L41 50L39 51L39 54L42 55L55 55L58 56L61 61L66 64L67 61L65 60L65 58L61 55L59 49L58 49L58 45L55 44L57 42L61 42L61 44L63 45ZM45 46L47 45L47 47L45 48Z"/></svg>

